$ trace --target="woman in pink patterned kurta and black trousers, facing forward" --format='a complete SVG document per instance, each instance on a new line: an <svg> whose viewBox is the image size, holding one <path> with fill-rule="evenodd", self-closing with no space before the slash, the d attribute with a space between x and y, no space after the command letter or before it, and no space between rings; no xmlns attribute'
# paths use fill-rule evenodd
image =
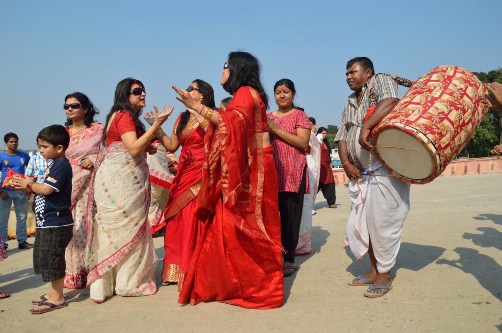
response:
<svg viewBox="0 0 502 333"><path fill-rule="evenodd" d="M274 162L279 177L279 213L284 255L284 277L293 275L295 250L298 245L302 219L303 196L310 193L305 150L309 145L310 122L303 110L293 105L295 85L282 79L274 86L277 111L267 115L274 149Z"/></svg>

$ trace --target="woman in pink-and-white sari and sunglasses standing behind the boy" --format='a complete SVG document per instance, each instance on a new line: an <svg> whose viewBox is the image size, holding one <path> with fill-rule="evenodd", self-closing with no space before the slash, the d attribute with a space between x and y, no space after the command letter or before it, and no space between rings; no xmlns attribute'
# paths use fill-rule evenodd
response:
<svg viewBox="0 0 502 333"><path fill-rule="evenodd" d="M65 253L66 275L63 283L65 288L80 289L85 288L88 272L82 259L87 197L104 127L94 120L98 111L86 95L75 92L64 100L63 109L67 117L65 126L70 134L66 157L73 169L71 211L74 224L73 238Z"/></svg>

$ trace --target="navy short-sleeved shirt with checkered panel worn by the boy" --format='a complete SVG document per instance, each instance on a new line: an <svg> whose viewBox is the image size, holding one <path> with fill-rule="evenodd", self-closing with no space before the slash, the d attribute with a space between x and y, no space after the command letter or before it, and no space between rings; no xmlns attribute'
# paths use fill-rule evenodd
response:
<svg viewBox="0 0 502 333"><path fill-rule="evenodd" d="M35 196L37 228L64 227L73 224L71 187L73 171L67 158L54 162L45 169L43 184L54 189L49 195Z"/></svg>

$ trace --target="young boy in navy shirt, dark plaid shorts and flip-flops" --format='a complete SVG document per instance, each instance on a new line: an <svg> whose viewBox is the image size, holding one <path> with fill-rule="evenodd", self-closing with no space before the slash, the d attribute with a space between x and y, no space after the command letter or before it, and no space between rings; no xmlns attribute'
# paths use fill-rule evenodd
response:
<svg viewBox="0 0 502 333"><path fill-rule="evenodd" d="M53 163L42 175L41 183L18 178L13 181L18 189L35 193L37 236L33 251L35 274L42 274L51 282L49 292L33 300L32 314L41 314L66 306L63 295L65 249L73 236L71 205L72 169L65 156L70 136L61 125L44 128L37 137L40 154Z"/></svg>

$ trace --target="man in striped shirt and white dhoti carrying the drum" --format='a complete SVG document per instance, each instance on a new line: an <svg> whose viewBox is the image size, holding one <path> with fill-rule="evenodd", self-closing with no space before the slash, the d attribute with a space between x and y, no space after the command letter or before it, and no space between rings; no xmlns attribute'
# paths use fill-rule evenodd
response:
<svg viewBox="0 0 502 333"><path fill-rule="evenodd" d="M370 131L398 102L398 86L386 74L375 76L366 57L347 62L347 84L354 91L343 109L342 123L335 137L342 167L350 179L352 201L344 242L362 259L369 253L370 271L348 282L369 286L364 296L380 297L392 288L391 268L401 243L403 223L410 210L410 184L393 177L370 151ZM369 92L376 107L370 107Z"/></svg>

